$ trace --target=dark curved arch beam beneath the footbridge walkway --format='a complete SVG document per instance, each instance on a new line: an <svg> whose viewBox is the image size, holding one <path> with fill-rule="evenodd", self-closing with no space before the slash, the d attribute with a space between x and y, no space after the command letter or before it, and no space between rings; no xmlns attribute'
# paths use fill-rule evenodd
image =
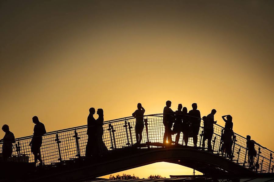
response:
<svg viewBox="0 0 274 182"><path fill-rule="evenodd" d="M78 167L75 164L74 168L59 170L58 173L52 171L47 177L40 176L38 179L62 181L64 176L70 180L92 179L156 162L180 164L200 171L208 177L255 177L257 175L224 157L193 147L125 149L102 160L98 162L84 160L86 162L82 161Z"/></svg>

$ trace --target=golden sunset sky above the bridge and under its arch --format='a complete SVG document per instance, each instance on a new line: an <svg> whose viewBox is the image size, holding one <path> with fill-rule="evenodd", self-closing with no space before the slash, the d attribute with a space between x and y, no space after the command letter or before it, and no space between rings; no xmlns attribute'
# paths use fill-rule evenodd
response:
<svg viewBox="0 0 274 182"><path fill-rule="evenodd" d="M196 102L274 150L273 1L0 1L0 124L15 137ZM96 118L97 116L95 116ZM0 133L0 137L4 132ZM168 169L168 170L161 170ZM181 171L181 173L180 173ZM191 174L156 163L129 173Z"/></svg>

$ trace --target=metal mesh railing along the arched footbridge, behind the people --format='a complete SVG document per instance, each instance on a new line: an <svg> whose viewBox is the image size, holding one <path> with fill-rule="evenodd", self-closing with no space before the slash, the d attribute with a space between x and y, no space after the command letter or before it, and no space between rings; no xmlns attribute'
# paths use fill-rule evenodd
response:
<svg viewBox="0 0 274 182"><path fill-rule="evenodd" d="M145 127L142 132L141 143L163 143L164 125L162 114L144 116ZM108 150L117 150L119 148L132 146L136 143L135 122L133 117L119 118L104 122L103 141ZM226 157L222 152L221 137L224 128L220 125L214 125L214 134L212 138L213 153ZM72 158L85 156L87 143L87 125L54 132L48 132L43 136L41 146L41 156L45 164L59 163ZM198 146L202 146L203 121L201 121ZM173 141L175 136L173 135ZM13 145L12 157L9 161L15 162L34 162L34 156L31 153L29 143L32 136L17 138ZM247 167L248 150L246 147L247 139L234 133L232 145L232 161L241 166ZM185 145L183 141L183 133L180 134L179 144ZM0 144L0 153L2 153L2 145ZM188 146L194 146L193 139L189 138ZM207 141L206 141L207 146ZM156 146L150 146L156 147ZM255 143L257 155L254 159L256 166L255 171L258 173L273 173L274 161L272 159L272 151Z"/></svg>

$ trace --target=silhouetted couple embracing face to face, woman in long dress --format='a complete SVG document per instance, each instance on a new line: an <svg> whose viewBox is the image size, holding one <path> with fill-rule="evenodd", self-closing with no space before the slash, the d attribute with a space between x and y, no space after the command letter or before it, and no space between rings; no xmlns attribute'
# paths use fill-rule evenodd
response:
<svg viewBox="0 0 274 182"><path fill-rule="evenodd" d="M101 155L107 151L107 147L103 142L103 122L104 111L103 109L97 109L97 119L93 117L95 114L95 108L90 108L90 114L87 118L87 135L88 141L86 145L86 156Z"/></svg>

